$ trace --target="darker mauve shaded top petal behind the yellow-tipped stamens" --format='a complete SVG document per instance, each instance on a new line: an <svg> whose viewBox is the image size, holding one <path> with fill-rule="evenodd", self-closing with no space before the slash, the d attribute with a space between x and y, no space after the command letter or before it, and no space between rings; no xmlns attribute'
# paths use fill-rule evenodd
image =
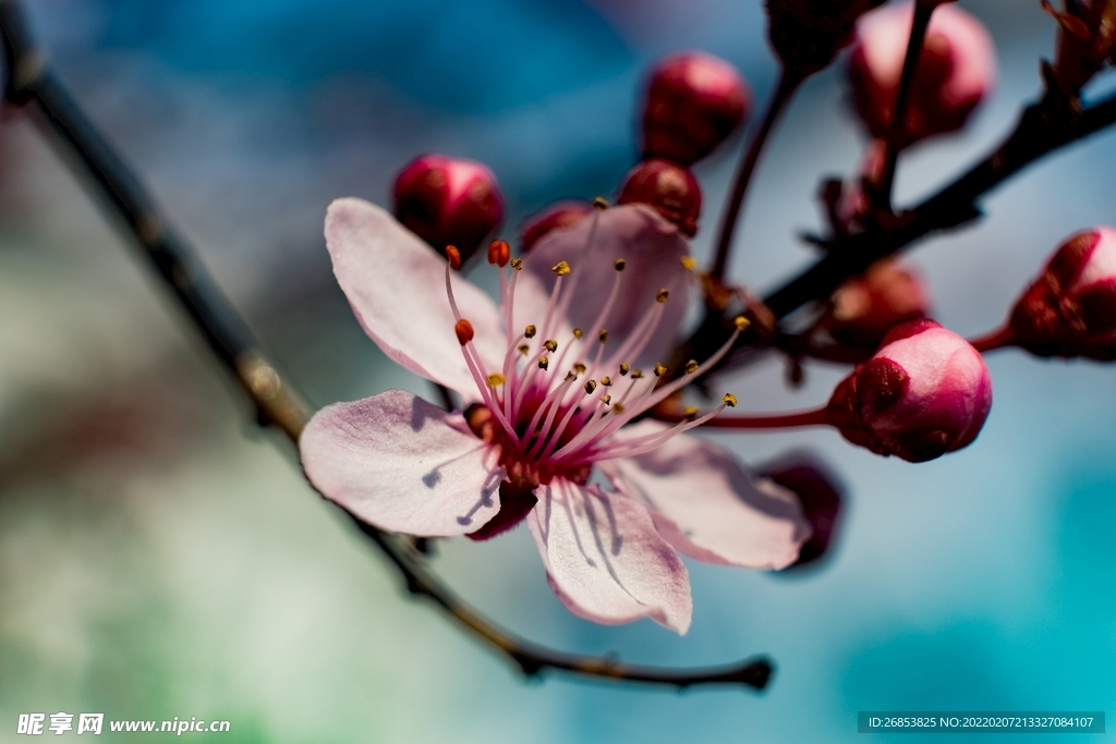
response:
<svg viewBox="0 0 1116 744"><path fill-rule="evenodd" d="M594 220L598 221L597 229L586 251ZM618 348L655 307L658 290L668 289L671 299L650 344L638 358L627 359L631 364L663 361L686 310L690 276L682 265L682 258L689 254L689 244L679 229L647 206L626 204L596 212L573 228L548 233L527 254L516 293L516 325L541 327L556 281L551 268L559 261L567 261L573 271L564 281L567 288L573 287L573 294L566 317L559 319L559 323L596 334L600 329L590 326L612 291L616 277L614 263L616 259L624 259L626 267L620 277L619 294L602 323L614 339L606 352Z"/></svg>

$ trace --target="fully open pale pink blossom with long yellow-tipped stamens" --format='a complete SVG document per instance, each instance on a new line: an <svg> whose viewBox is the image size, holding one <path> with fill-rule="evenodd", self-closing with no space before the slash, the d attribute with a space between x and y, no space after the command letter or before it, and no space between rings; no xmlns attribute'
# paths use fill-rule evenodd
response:
<svg viewBox="0 0 1116 744"><path fill-rule="evenodd" d="M628 425L700 374L690 365L656 387L652 371L690 281L685 240L654 211L594 212L510 267L507 244L493 245L500 307L366 202L335 202L326 239L368 336L472 404L449 413L389 390L320 410L300 447L326 496L415 535L483 538L523 519L555 592L598 622L651 617L685 632L679 552L793 562L809 531L797 500L682 434L720 408L676 426Z"/></svg>

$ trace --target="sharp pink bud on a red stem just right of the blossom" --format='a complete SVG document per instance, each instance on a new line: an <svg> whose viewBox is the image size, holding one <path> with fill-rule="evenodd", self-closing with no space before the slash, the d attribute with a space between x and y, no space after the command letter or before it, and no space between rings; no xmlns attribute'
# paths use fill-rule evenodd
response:
<svg viewBox="0 0 1116 744"><path fill-rule="evenodd" d="M992 378L969 341L933 320L896 326L834 390L827 414L841 436L913 463L966 446L992 407Z"/></svg>

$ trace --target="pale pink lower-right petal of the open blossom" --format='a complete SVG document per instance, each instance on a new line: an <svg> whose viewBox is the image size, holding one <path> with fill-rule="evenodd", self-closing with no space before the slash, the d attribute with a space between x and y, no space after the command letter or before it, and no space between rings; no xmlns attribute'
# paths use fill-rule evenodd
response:
<svg viewBox="0 0 1116 744"><path fill-rule="evenodd" d="M642 422L625 437L667 426ZM603 464L614 484L646 504L660 533L682 553L711 563L781 569L798 558L810 526L793 494L756 479L725 450L679 434L657 450Z"/></svg>

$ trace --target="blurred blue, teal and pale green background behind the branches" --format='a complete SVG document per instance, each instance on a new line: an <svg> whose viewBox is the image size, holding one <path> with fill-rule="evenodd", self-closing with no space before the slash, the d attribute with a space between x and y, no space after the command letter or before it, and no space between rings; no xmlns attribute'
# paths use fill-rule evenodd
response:
<svg viewBox="0 0 1116 744"><path fill-rule="evenodd" d="M964 134L904 157L901 201L1002 136L1051 54L1038 0L961 4L990 26L1001 84ZM316 405L429 393L364 337L334 283L321 238L330 200L384 204L405 162L440 151L493 167L510 235L551 200L613 194L636 156L641 79L656 56L721 55L760 100L776 74L759 0L29 6L61 78ZM793 234L819 224L818 178L853 172L864 144L846 97L838 66L810 80L775 134L745 209L740 281L769 288L810 260ZM698 167L699 255L741 142ZM1116 135L1095 136L999 190L979 226L921 244L911 261L937 318L963 334L991 328L1062 238L1116 221L1114 162ZM1113 369L1014 351L990 366L983 434L933 463L882 460L830 432L715 435L753 463L809 447L849 502L815 570L691 564L684 638L573 617L521 529L440 544L453 586L533 639L643 663L767 653L778 665L762 695L528 683L403 599L290 451L250 425L35 123L6 109L0 742L20 738L19 713L59 711L224 718L229 742L485 744L854 741L860 709L1112 715ZM783 371L771 360L725 385L744 409L799 408L841 375L809 366L791 393Z"/></svg>

